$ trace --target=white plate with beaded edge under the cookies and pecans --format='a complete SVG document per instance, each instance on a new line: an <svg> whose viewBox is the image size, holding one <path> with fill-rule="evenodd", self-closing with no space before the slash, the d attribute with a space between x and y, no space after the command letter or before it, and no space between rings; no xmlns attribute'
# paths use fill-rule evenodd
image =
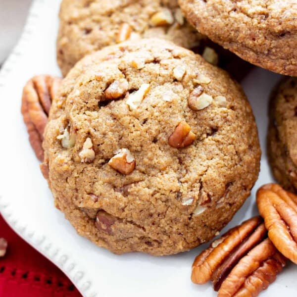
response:
<svg viewBox="0 0 297 297"><path fill-rule="evenodd" d="M55 61L59 2L34 1L22 38L0 72L2 215L24 240L61 268L86 297L216 296L210 283L198 286L190 280L192 262L205 245L175 256L152 257L141 253L117 256L78 236L64 215L54 208L28 142L20 105L22 87L31 76L60 75ZM257 68L244 81L257 119L263 156L251 198L228 229L256 213L255 190L273 180L265 153L267 99L279 78ZM288 265L262 296L296 297L296 275L297 266Z"/></svg>

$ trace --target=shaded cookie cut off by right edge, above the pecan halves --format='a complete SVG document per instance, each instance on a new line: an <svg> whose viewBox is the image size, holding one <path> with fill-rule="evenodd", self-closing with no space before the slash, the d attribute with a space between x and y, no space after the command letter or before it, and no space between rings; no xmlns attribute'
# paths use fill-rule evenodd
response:
<svg viewBox="0 0 297 297"><path fill-rule="evenodd" d="M297 78L285 78L270 102L267 148L272 172L287 190L297 192Z"/></svg>

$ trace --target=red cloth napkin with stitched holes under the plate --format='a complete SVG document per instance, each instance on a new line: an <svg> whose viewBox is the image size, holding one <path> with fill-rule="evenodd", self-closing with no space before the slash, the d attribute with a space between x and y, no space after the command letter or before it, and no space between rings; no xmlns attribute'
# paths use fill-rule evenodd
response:
<svg viewBox="0 0 297 297"><path fill-rule="evenodd" d="M8 242L0 257L0 297L81 297L66 277L24 242L0 215L0 238Z"/></svg>

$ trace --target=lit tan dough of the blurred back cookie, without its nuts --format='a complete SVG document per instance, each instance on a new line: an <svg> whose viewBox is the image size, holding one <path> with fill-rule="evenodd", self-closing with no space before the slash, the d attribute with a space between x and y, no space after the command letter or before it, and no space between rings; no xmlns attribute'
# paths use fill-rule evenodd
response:
<svg viewBox="0 0 297 297"><path fill-rule="evenodd" d="M153 25L151 17L164 11L172 23ZM186 22L177 0L63 0L59 17L57 61L63 75L86 54L115 44L123 23L131 26L131 39L164 38L193 48L204 38Z"/></svg>

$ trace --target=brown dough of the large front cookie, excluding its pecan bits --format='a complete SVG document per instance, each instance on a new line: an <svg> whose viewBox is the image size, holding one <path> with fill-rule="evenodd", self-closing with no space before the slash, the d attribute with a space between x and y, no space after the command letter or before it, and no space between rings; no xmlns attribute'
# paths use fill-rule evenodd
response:
<svg viewBox="0 0 297 297"><path fill-rule="evenodd" d="M188 98L197 88L213 101L194 111ZM128 105L144 89L143 100ZM181 121L195 141L170 147ZM65 128L75 135L72 148L62 147ZM88 138L94 160L83 150ZM108 164L123 148L136 162L127 175ZM44 149L56 206L80 235L119 254L174 254L209 241L249 196L260 160L240 86L199 55L158 39L106 47L79 61L53 102Z"/></svg>

